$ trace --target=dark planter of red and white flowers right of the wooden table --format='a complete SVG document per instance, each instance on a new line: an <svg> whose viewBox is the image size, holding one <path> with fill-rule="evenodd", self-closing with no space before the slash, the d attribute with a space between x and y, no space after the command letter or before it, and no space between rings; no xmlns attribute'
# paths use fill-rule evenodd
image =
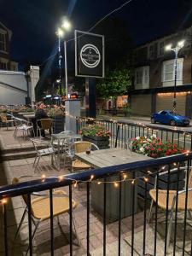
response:
<svg viewBox="0 0 192 256"><path fill-rule="evenodd" d="M183 148L177 146L176 143L171 143L169 140L167 142L162 142L159 137L152 135L151 137L136 137L132 139L131 142L131 150L138 154L148 155L152 158L166 157L172 154L182 154L185 152ZM184 166L184 163L181 163L180 166ZM155 182L155 173L157 172L166 172L163 175L159 176L158 187L159 189L167 189L167 184L169 181L169 189L177 189L177 178L178 178L178 188L183 189L183 179L185 177L184 170L179 170L177 173L177 164L172 164L170 166L171 169L175 169L170 172L170 176L166 171L168 171L169 166L157 166L153 167L151 172L154 172L148 179L148 189L154 187ZM146 175L146 170L139 170L137 173L138 176L142 177ZM145 184L143 180L139 180L137 183L138 194L145 196ZM150 196L147 194L148 198Z"/></svg>

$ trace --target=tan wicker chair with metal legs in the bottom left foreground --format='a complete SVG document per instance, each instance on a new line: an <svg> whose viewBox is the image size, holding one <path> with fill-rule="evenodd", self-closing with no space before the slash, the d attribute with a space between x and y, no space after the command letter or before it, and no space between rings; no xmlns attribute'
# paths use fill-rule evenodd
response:
<svg viewBox="0 0 192 256"><path fill-rule="evenodd" d="M19 178L15 177L12 181L13 184L19 183ZM50 218L50 209L49 209L49 194L39 194L39 193L33 193L32 195L37 195L36 198L32 199L31 201L31 214L32 214L32 224L34 224L35 228L32 233L32 240L35 237L36 231L38 230L38 226L41 222L47 220ZM24 218L26 216L26 212L28 211L28 202L27 202L27 196L22 195L23 200L26 203L26 208L25 211L22 215L22 218L20 219L20 224L18 226L18 229L15 233L15 239L19 234L20 227L24 221ZM77 207L78 203L74 200L72 200L72 211L75 207ZM53 217L57 217L58 224L60 224L59 221L59 215L63 213L68 213L69 214L69 196L66 194L65 191L63 190L54 190L53 192ZM75 223L74 223L74 218L73 220L73 227L74 231L79 243L79 237L77 236L76 228L75 228ZM26 255L29 251L29 247L26 250Z"/></svg>

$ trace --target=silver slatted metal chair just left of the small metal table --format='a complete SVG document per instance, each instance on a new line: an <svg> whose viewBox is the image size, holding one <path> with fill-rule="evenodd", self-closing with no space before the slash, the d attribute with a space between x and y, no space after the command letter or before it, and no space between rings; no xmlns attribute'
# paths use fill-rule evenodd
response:
<svg viewBox="0 0 192 256"><path fill-rule="evenodd" d="M53 148L50 143L42 143L41 140L39 141L37 139L31 139L31 141L32 141L32 144L33 144L33 146L35 148L35 151L36 151L36 157L35 157L35 160L34 160L34 163L33 163L33 167L35 168L34 171L36 171L40 158L42 156L46 156L46 155L49 155L49 156L55 158L56 149ZM42 146L42 145L47 146L47 148L39 149L38 147Z"/></svg>

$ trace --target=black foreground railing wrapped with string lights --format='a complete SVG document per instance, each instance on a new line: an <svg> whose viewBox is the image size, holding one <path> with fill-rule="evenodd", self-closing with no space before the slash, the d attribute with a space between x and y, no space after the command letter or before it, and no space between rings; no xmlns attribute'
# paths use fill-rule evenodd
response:
<svg viewBox="0 0 192 256"><path fill-rule="evenodd" d="M128 199L128 194L131 191L130 195L130 202L128 204L128 208L131 209L131 212L129 213L131 222L127 224L124 228L130 231L130 252L125 255L136 255L135 252L137 250L137 253L140 253L142 255L147 255L148 253L151 255L157 255L157 243L158 243L158 221L159 218L162 218L162 213L159 211L159 206L162 205L162 197L160 194L160 176L161 172L165 172L165 166L166 166L166 189L164 189L164 192L166 195L166 199L164 200L165 206L163 208L166 212L164 215L164 224L165 224L165 231L163 233L163 236L161 237L161 240L163 243L161 244L161 247L163 245L163 253L159 255L166 255L166 253L169 250L169 241L170 241L170 224L174 224L174 230L173 230L173 241L172 241L172 250L173 255L176 255L177 252L177 235L180 232L180 230L177 229L177 220L178 220L178 212L183 212L183 238L182 238L182 247L180 248L181 254L179 255L186 255L186 239L191 241L191 237L186 236L186 226L187 226L187 217L188 217L188 211L191 210L190 208L190 188L189 188L189 177L190 177L190 162L192 159L192 154L177 154L174 156L169 156L166 158L161 159L152 159L152 160L145 160L145 161L137 161L132 162L129 164L122 164L119 166L111 166L111 167L105 167L101 169L96 170L90 170L87 172L80 172L80 173L73 173L69 174L65 177L44 177L43 179L33 180L30 182L24 182L24 183L17 183L13 185L8 185L0 188L0 200L3 206L3 237L1 237L1 240L3 240L3 247L4 247L4 255L11 255L10 248L9 248L9 235L8 235L8 225L10 219L8 218L8 203L5 203L6 200L9 201L10 198L20 195L25 195L26 198L26 210L28 212L27 214L27 225L28 225L28 242L29 242L29 255L33 255L33 241L32 241L32 193L48 190L49 194L47 195L49 198L49 232L50 232L50 247L49 247L49 253L51 256L55 255L55 234L54 234L54 225L53 225L53 219L54 219L54 208L53 208L53 199L54 199L54 189L57 188L64 188L67 187L69 191L69 253L70 255L73 255L74 253L74 247L73 247L73 192L74 189L73 185L78 183L86 183L86 203L84 204L84 207L86 209L86 214L84 215L84 218L86 219L86 254L90 255L91 248L90 248L90 211L93 211L91 208L90 200L92 201L92 198L90 197L90 190L93 184L102 186L102 197L103 197L103 212L102 212L102 254L107 255L107 248L108 248L108 217L107 217L107 204L108 204L108 186L111 186L111 183L108 183L108 179L111 177L115 177L116 182L114 184L115 193L118 193L118 201L116 202L116 205L118 207L118 224L117 224L117 247L115 248L116 253L115 255L122 255L122 207L125 204L125 201ZM172 179L172 166L174 166L176 179L176 189L174 192L173 197L172 190L170 187L171 179ZM180 172L183 170L183 167L185 168L185 176L184 176L184 182L185 185L180 186ZM143 171L144 174L141 176L140 171ZM152 230L154 233L153 239L150 238L150 245L153 244L153 246L148 247L148 239L147 239L147 233L148 233L148 204L150 200L148 199L148 190L151 189L151 185L149 186L152 179L155 177L155 184L156 189L154 190L154 197L155 197L155 204L154 207L152 205L151 209L154 211L154 223L152 225ZM136 219L137 216L137 184L139 182L143 182L143 189L144 189L144 196L143 196L143 209L142 209L142 236L137 237L136 232L136 224L138 222L138 219ZM118 185L116 185L118 183ZM125 185L129 185L129 189L124 189ZM101 189L100 189L101 190ZM183 193L183 194L182 194ZM182 203L180 195L185 195L182 197ZM115 205L115 204L114 204ZM171 214L169 214L171 212ZM75 214L75 210L74 210ZM175 219L172 219L172 216L174 214ZM181 221L181 220L180 220ZM191 228L191 227L190 227ZM161 234L162 235L162 234ZM77 233L78 236L78 233ZM140 249L137 248L137 242L142 241L142 247ZM14 246L14 242L13 242ZM82 245L79 244L79 247ZM139 250L139 252L138 252ZM190 248L189 252L190 254Z"/></svg>

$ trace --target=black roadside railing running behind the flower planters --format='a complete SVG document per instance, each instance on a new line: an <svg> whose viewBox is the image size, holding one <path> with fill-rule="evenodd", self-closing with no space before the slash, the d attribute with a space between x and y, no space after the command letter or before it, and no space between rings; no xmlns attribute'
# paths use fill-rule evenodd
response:
<svg viewBox="0 0 192 256"><path fill-rule="evenodd" d="M106 127L111 132L111 148L126 148L131 138L138 136L151 136L155 134L162 141L177 143L181 148L192 150L192 131L182 127L162 127L159 125L143 125L142 123L132 123L130 121L116 121L113 119L90 119L78 118L77 131L87 124L96 123Z"/></svg>

